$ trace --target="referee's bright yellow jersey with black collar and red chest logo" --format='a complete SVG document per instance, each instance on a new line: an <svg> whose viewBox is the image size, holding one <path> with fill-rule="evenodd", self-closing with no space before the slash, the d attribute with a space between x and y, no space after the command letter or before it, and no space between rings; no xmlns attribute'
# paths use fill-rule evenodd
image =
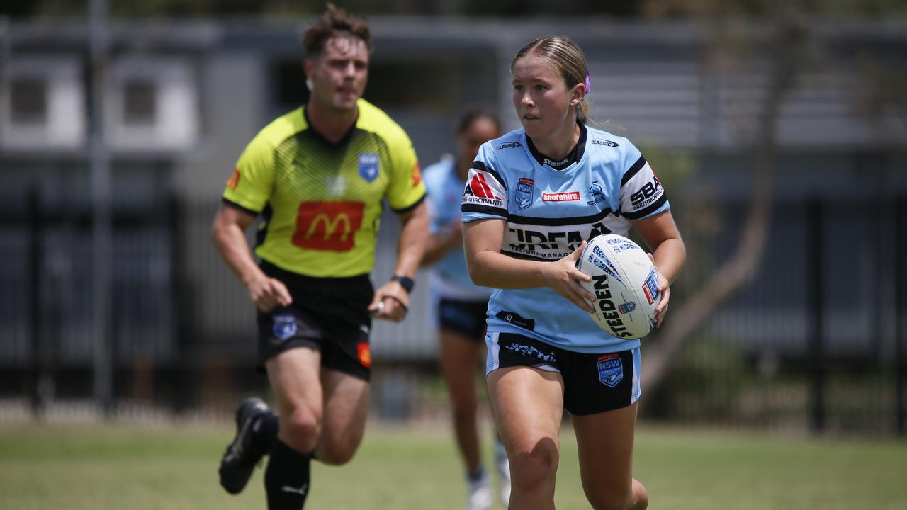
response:
<svg viewBox="0 0 907 510"><path fill-rule="evenodd" d="M268 124L239 157L223 201L262 214L258 257L312 277L366 274L382 199L397 212L424 200L403 128L375 105L357 105L356 126L340 142L311 129L302 107Z"/></svg>

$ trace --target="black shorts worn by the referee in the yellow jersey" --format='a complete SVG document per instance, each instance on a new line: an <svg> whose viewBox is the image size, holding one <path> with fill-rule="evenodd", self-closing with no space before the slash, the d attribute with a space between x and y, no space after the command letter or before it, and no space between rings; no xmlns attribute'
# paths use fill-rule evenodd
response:
<svg viewBox="0 0 907 510"><path fill-rule="evenodd" d="M375 289L368 275L313 278L262 260L261 270L287 286L293 302L258 311L258 368L281 352L299 347L321 351L321 366L368 380L372 355L368 305Z"/></svg>

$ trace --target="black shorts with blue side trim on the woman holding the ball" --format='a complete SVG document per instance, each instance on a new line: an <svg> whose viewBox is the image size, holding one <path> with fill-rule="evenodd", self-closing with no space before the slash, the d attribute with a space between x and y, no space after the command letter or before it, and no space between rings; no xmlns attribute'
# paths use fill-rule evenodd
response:
<svg viewBox="0 0 907 510"><path fill-rule="evenodd" d="M513 333L493 332L485 339L489 373L508 367L559 372L564 381L564 408L571 415L594 415L639 400L639 347L587 354Z"/></svg>

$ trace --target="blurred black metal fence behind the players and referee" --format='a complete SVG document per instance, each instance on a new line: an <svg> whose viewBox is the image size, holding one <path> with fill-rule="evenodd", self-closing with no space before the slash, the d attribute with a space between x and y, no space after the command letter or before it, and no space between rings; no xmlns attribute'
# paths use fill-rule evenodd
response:
<svg viewBox="0 0 907 510"><path fill-rule="evenodd" d="M689 251L677 312L736 248L746 203L674 200ZM90 399L90 210L49 203L38 189L3 203L0 397L28 398L39 411ZM216 208L166 192L114 204L109 405L229 407L264 387L252 368L253 309L210 248ZM671 360L666 382L646 396L646 417L904 434L907 200L782 200L772 216L755 279ZM385 218L375 281L392 269L396 229ZM396 406L390 415L418 412L418 383L436 378L426 287L403 325L375 327L375 395ZM644 340L644 353L657 342Z"/></svg>

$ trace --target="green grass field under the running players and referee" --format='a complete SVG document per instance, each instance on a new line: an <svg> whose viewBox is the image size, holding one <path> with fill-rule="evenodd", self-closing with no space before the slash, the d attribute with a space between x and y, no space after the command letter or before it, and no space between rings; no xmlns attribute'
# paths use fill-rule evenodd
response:
<svg viewBox="0 0 907 510"><path fill-rule="evenodd" d="M226 425L0 427L0 508L263 508L263 470L242 495L218 485L230 435ZM561 445L558 508L588 508L569 429ZM905 441L642 427L635 463L656 510L907 508ZM443 427L370 424L351 464L313 476L307 508L458 509L465 495Z"/></svg>

